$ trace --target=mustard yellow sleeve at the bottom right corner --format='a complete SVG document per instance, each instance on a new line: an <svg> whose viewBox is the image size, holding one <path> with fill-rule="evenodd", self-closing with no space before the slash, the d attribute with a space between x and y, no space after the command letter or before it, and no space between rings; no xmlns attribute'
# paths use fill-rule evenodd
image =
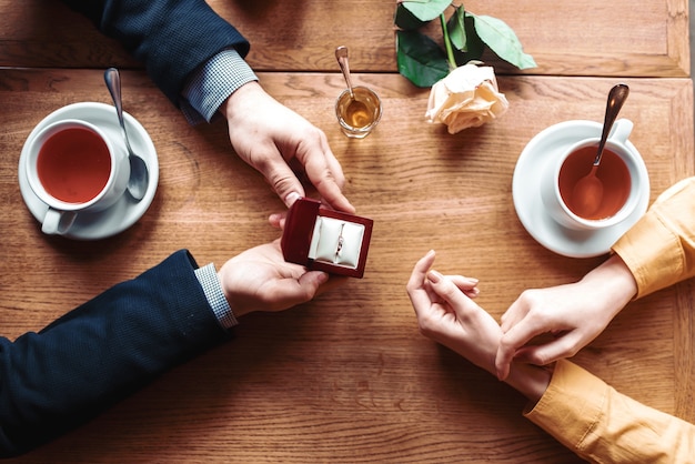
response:
<svg viewBox="0 0 695 464"><path fill-rule="evenodd" d="M524 415L582 458L597 463L685 463L695 456L695 425L645 406L562 360Z"/></svg>

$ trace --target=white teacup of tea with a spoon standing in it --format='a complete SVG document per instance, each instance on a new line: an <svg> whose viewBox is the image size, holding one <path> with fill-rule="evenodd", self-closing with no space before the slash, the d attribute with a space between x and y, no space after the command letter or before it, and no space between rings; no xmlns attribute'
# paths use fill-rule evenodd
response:
<svg viewBox="0 0 695 464"><path fill-rule="evenodd" d="M574 143L547 164L540 178L541 196L557 223L573 230L598 230L618 224L635 211L642 193L649 190L649 179L642 155L627 141L632 129L632 121L620 119L608 135L595 174L603 194L591 213L580 206L582 199L576 198L574 185L590 174L598 138Z"/></svg>

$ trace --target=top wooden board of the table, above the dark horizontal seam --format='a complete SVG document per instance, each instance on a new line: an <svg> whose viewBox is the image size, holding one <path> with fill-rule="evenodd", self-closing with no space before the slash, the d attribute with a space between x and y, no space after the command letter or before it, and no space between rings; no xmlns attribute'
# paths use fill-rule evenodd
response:
<svg viewBox="0 0 695 464"><path fill-rule="evenodd" d="M335 47L357 72L396 72L395 0L209 0L252 43L259 71L338 71ZM460 4L460 2L457 2ZM483 1L465 8L505 21L538 67L526 74L687 77L686 0ZM139 67L59 1L0 0L0 65ZM431 36L441 41L436 27ZM493 56L498 73L517 73Z"/></svg>

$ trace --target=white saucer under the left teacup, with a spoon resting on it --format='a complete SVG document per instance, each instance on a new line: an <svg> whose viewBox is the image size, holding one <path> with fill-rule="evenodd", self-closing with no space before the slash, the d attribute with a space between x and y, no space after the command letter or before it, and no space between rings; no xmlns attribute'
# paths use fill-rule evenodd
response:
<svg viewBox="0 0 695 464"><path fill-rule="evenodd" d="M130 194L124 193L120 200L111 208L98 213L79 214L70 230L63 236L77 240L99 240L115 235L134 224L148 210L154 199L157 184L159 183L159 160L152 139L144 128L132 115L123 112L125 129L130 139L130 144L135 153L141 155L150 171L150 184L144 196L139 202ZM36 137L48 124L62 119L80 119L98 125L108 134L112 134L112 140L122 141L121 127L115 115L115 108L98 102L73 103L53 111L31 131L27 142ZM27 208L31 214L40 222L43 220L48 205L33 193L29 186L24 167L28 143L24 142L22 153L19 158L19 188ZM121 142L123 145L124 142Z"/></svg>

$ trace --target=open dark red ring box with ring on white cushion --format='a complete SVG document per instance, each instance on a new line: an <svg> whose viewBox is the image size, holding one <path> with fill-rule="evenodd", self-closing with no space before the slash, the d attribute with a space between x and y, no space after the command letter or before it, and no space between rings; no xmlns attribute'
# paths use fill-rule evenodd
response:
<svg viewBox="0 0 695 464"><path fill-rule="evenodd" d="M301 198L288 211L282 254L309 270L362 279L373 222Z"/></svg>

